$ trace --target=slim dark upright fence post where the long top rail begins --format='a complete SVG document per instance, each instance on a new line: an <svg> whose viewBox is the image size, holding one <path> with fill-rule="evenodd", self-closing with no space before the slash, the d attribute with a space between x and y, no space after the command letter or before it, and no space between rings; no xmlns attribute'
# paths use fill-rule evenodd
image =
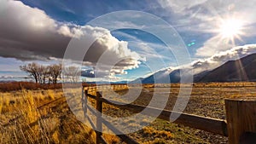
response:
<svg viewBox="0 0 256 144"><path fill-rule="evenodd" d="M102 140L102 95L99 91L96 92L96 144L100 144Z"/></svg>

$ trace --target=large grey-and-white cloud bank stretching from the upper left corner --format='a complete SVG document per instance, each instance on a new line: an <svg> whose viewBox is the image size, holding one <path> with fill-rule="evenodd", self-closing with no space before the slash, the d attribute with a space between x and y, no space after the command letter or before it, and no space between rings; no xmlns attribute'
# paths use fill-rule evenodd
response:
<svg viewBox="0 0 256 144"><path fill-rule="evenodd" d="M55 60L63 58L72 37L83 35L97 37L84 60L95 66L106 53L108 61L119 61L113 73L125 74L124 70L136 68L141 57L128 49L128 43L119 41L101 27L77 26L53 20L43 10L31 8L20 1L1 1L0 4L0 56L17 60ZM102 37L99 37L102 36ZM103 71L103 70L102 70Z"/></svg>

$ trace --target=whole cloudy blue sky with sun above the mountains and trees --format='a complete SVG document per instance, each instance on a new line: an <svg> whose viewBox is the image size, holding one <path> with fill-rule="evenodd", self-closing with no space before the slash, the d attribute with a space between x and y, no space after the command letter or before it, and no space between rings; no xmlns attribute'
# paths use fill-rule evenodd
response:
<svg viewBox="0 0 256 144"><path fill-rule="evenodd" d="M98 79L113 81L178 67L211 70L255 53L255 5L252 0L2 0L0 81L26 76L19 66L32 61L61 62L70 42L81 37L96 39L83 59L87 77L96 69ZM104 14L113 16L102 20Z"/></svg>

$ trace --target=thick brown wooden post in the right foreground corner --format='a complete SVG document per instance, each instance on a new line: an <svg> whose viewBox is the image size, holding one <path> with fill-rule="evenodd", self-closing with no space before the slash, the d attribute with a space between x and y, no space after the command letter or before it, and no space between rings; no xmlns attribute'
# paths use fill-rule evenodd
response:
<svg viewBox="0 0 256 144"><path fill-rule="evenodd" d="M256 143L256 99L227 99L225 108L229 143Z"/></svg>

